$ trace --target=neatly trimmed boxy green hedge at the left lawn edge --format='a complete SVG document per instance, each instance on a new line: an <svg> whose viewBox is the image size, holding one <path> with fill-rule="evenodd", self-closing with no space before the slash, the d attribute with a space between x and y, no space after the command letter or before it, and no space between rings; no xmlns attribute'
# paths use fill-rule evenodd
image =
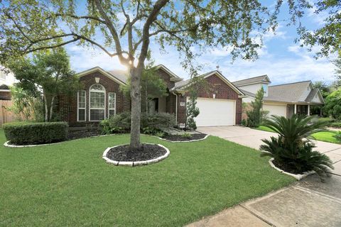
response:
<svg viewBox="0 0 341 227"><path fill-rule="evenodd" d="M66 122L14 122L5 123L6 139L15 145L56 143L67 140Z"/></svg>

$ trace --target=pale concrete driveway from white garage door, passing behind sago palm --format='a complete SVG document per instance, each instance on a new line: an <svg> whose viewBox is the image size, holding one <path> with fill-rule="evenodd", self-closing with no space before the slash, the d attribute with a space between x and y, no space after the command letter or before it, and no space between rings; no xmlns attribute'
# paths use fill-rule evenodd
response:
<svg viewBox="0 0 341 227"><path fill-rule="evenodd" d="M263 144L261 139L269 139L271 136L277 136L276 133L260 131L242 126L198 127L197 131L215 135L225 140L239 143L257 150L259 150L259 146ZM334 163L335 170L333 170L333 173L341 176L341 145L316 140L313 140L313 142L316 145L316 150L328 155Z"/></svg>

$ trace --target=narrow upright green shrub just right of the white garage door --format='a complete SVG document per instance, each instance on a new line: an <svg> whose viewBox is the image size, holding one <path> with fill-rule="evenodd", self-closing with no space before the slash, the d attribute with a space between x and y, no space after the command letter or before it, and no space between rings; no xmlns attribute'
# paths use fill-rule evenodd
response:
<svg viewBox="0 0 341 227"><path fill-rule="evenodd" d="M254 101L251 101L251 111L247 111L247 126L251 128L258 127L262 120L262 108L264 99L264 89L261 87L256 92Z"/></svg>

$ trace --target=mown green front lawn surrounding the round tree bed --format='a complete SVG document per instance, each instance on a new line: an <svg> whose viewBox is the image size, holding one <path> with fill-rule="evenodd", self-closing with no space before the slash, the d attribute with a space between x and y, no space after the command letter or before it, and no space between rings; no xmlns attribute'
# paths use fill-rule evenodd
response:
<svg viewBox="0 0 341 227"><path fill-rule="evenodd" d="M105 163L105 148L128 143L129 135L1 146L0 226L183 226L294 181L259 151L217 137L141 139L171 155L142 167Z"/></svg>

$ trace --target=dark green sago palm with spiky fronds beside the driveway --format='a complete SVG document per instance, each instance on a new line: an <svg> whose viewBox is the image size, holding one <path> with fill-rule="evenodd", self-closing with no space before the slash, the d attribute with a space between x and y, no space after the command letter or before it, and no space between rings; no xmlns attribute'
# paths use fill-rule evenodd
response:
<svg viewBox="0 0 341 227"><path fill-rule="evenodd" d="M264 125L278 133L278 138L262 140L260 150L266 151L262 156L274 157L278 165L286 167L293 173L314 170L320 177L330 175L332 162L327 155L313 150L315 145L308 136L321 131L324 123L312 121L311 116L293 115L291 118L272 116Z"/></svg>

